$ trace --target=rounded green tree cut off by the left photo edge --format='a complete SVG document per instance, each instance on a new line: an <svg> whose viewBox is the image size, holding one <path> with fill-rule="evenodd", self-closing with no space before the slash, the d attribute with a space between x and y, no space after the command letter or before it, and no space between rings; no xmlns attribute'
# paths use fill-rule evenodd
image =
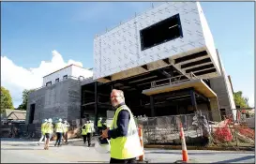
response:
<svg viewBox="0 0 256 164"><path fill-rule="evenodd" d="M14 107L8 89L1 86L1 112L3 112L5 109L13 110Z"/></svg>

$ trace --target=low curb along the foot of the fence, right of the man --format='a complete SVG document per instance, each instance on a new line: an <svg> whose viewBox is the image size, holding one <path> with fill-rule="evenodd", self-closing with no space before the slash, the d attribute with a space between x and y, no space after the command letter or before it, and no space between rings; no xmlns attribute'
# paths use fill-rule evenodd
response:
<svg viewBox="0 0 256 164"><path fill-rule="evenodd" d="M158 148L158 149L173 149L173 150L181 150L181 145L154 145L154 144L145 144L144 148ZM217 150L217 151L255 151L254 148L251 147L217 147L217 146L187 146L188 150Z"/></svg>

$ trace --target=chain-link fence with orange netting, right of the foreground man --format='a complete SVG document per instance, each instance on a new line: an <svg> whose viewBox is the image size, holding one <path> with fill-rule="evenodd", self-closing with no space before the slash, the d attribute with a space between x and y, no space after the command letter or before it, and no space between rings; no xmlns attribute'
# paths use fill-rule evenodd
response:
<svg viewBox="0 0 256 164"><path fill-rule="evenodd" d="M137 118L143 126L144 144L181 144L178 121L181 120L188 145L244 147L255 145L254 129L227 115L219 123L209 121L211 112ZM209 141L207 141L209 139ZM205 141L206 140L206 141Z"/></svg>

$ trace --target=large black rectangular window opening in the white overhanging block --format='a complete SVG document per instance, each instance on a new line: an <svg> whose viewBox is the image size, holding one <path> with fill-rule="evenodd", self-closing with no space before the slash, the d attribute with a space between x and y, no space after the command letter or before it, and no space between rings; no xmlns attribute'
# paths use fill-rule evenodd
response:
<svg viewBox="0 0 256 164"><path fill-rule="evenodd" d="M142 51L164 42L183 37L179 14L157 22L140 31Z"/></svg>

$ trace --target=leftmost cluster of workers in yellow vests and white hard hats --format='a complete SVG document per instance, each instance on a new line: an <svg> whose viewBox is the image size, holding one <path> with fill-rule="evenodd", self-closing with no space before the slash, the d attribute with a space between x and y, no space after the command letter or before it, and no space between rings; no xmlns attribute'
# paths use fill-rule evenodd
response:
<svg viewBox="0 0 256 164"><path fill-rule="evenodd" d="M41 125L41 138L38 142L38 145L40 145L40 142L44 140L44 149L48 150L49 143L53 138L54 133L57 137L54 146L61 146L61 142L65 142L68 144L68 127L70 127L70 125L68 124L67 120L64 120L64 122L62 122L62 119L59 118L57 123L53 124L52 118L45 119Z"/></svg>

